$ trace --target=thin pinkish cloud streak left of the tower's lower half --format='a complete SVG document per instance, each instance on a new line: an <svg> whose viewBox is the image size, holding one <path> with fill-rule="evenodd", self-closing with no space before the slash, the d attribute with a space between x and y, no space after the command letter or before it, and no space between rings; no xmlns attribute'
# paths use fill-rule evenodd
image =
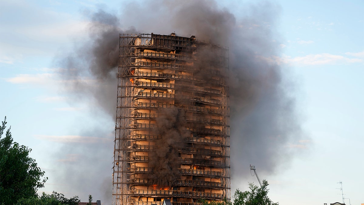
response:
<svg viewBox="0 0 364 205"><path fill-rule="evenodd" d="M111 139L108 138L98 138L98 137L88 137L80 135L34 135L36 139L48 140L51 142L59 143L108 143Z"/></svg>

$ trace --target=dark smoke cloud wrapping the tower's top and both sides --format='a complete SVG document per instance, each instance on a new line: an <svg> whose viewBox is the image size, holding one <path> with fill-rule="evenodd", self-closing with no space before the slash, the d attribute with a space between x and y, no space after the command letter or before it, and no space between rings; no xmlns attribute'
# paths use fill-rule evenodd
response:
<svg viewBox="0 0 364 205"><path fill-rule="evenodd" d="M285 87L289 81L282 67L267 60L279 56L277 5L246 5L243 11L236 11L241 16L207 0L133 2L123 9L121 15L104 11L91 15L90 39L60 61L72 93L81 96L81 100L91 100L93 109L105 111L114 121L119 33L137 32L122 28L133 26L141 33L195 35L199 40L229 47L232 182L250 178L250 164L261 175L273 174L279 165L292 159L288 145L297 144L302 138L294 98L288 93L292 88ZM173 147L173 142L169 146ZM113 155L112 150L108 151L105 158ZM163 166L169 169L172 165Z"/></svg>

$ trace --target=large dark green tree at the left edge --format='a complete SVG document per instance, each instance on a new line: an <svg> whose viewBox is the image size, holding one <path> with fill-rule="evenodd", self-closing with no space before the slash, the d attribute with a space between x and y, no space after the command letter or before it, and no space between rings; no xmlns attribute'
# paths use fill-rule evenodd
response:
<svg viewBox="0 0 364 205"><path fill-rule="evenodd" d="M13 142L10 128L3 137L6 124L5 117L0 127L0 203L15 204L20 198L37 197L48 178L29 157L31 149Z"/></svg>

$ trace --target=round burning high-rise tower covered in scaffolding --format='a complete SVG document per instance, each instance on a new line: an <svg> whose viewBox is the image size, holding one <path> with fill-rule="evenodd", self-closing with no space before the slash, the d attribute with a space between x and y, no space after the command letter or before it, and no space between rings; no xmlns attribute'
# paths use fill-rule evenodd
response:
<svg viewBox="0 0 364 205"><path fill-rule="evenodd" d="M120 34L113 203L230 198L229 50Z"/></svg>

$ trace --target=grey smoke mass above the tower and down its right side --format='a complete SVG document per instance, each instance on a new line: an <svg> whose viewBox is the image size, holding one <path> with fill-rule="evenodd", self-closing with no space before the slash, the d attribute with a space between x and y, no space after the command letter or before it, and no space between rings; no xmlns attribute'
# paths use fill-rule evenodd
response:
<svg viewBox="0 0 364 205"><path fill-rule="evenodd" d="M237 17L213 1L165 1L138 7L139 18L130 23L145 33L195 35L199 40L229 47L230 138L232 178L251 177L249 165L272 174L292 159L290 144L299 144L292 87L278 63L280 37L276 21L280 7L263 2L246 5ZM156 12L150 11L151 8ZM158 10L159 9L159 10ZM128 11L125 11L128 15ZM151 23L140 19L158 19ZM239 175L238 175L239 173Z"/></svg>

